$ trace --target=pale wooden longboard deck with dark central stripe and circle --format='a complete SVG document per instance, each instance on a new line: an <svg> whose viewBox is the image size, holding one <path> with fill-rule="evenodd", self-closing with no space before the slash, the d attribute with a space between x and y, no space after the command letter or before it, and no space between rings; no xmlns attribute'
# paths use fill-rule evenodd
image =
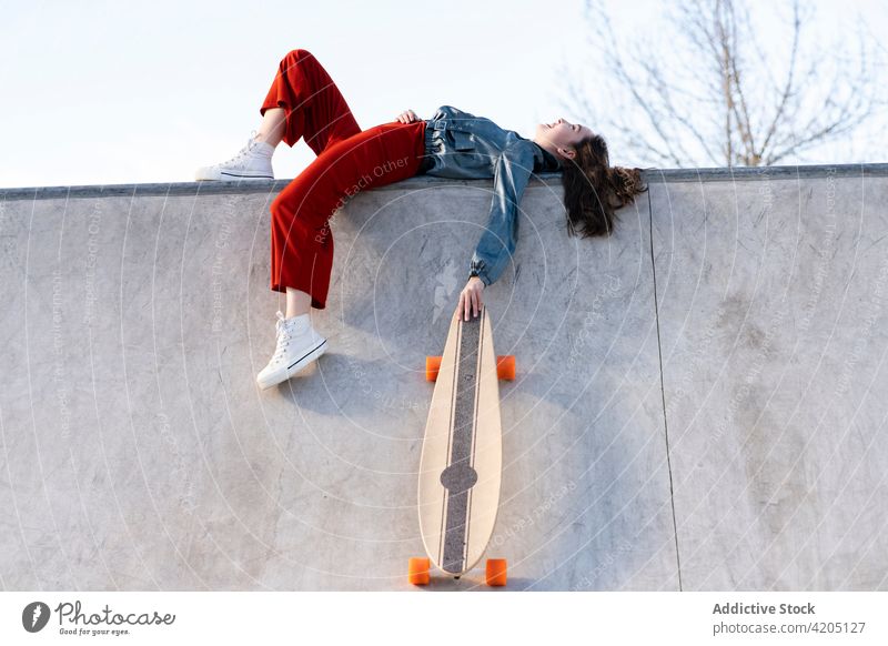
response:
<svg viewBox="0 0 888 646"><path fill-rule="evenodd" d="M432 395L420 462L420 529L428 556L447 574L475 566L500 506L503 430L487 309L454 312Z"/></svg>

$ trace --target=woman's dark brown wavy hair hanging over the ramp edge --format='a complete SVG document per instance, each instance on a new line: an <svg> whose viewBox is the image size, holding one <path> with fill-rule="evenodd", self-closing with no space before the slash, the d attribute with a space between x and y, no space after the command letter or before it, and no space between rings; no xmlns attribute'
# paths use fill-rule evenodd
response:
<svg viewBox="0 0 888 646"><path fill-rule="evenodd" d="M610 166L607 142L601 134L582 139L573 160L562 159L567 234L581 238L610 235L619 220L616 211L647 191L642 169Z"/></svg>

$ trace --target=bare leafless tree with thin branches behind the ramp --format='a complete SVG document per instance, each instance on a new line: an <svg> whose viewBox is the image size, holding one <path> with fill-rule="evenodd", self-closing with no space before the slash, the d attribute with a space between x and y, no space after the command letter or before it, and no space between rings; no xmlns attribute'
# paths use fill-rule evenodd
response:
<svg viewBox="0 0 888 646"><path fill-rule="evenodd" d="M765 49L749 6L731 0L676 3L663 26L672 29L664 32L668 46L657 51L636 34L632 57L601 0L586 0L584 13L604 78L592 75L595 85L582 87L591 74L568 67L565 107L640 163L770 165L849 137L884 114L884 79L877 77L885 68L874 59L872 39L858 29L844 40L856 54L821 42L805 60L800 46L813 14L803 14L797 0L787 38ZM615 104L616 97L625 97L625 105Z"/></svg>

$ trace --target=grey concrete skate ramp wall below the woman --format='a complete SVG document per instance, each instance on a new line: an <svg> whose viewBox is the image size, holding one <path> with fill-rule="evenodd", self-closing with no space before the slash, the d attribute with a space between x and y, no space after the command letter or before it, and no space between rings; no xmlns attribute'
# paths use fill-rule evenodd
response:
<svg viewBox="0 0 888 646"><path fill-rule="evenodd" d="M887 178L648 172L607 240L532 183L484 294L513 589L888 589ZM4 589L411 588L424 359L492 185L346 204L330 351L259 391L284 185L0 191Z"/></svg>

